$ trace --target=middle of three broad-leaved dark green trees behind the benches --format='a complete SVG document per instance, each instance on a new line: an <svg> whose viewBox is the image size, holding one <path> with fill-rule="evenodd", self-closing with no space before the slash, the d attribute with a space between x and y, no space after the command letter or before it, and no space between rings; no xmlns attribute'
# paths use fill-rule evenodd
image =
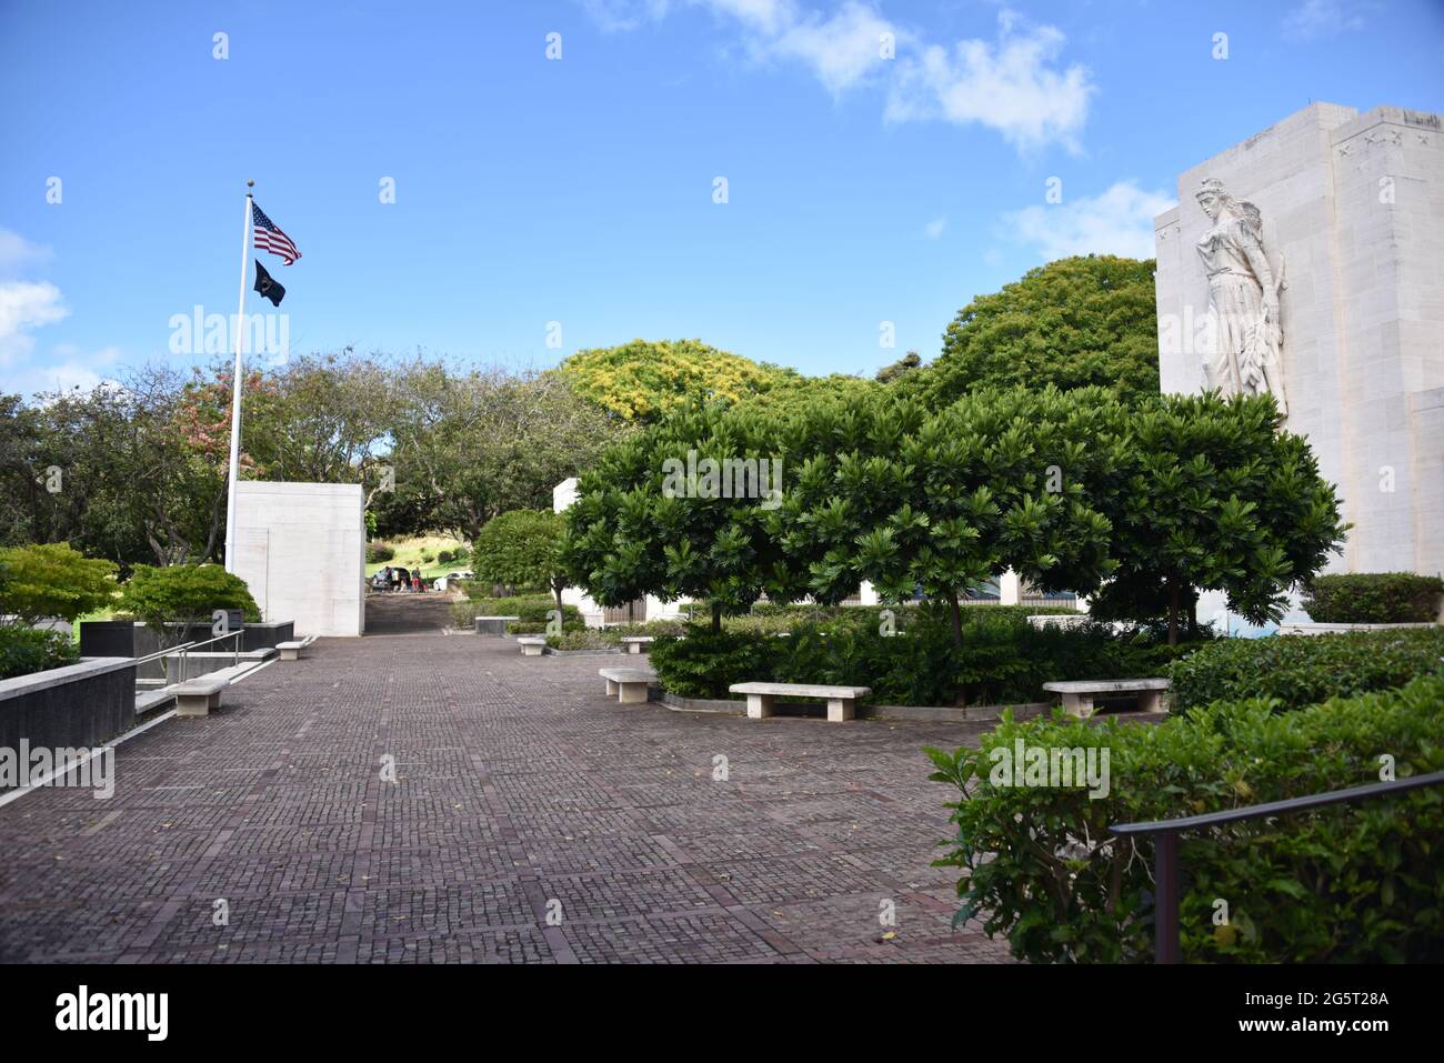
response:
<svg viewBox="0 0 1444 1063"><path fill-rule="evenodd" d="M907 397L819 406L793 425L807 458L777 524L819 601L862 579L890 601L921 589L960 644L962 599L1009 568L1044 589L1110 572L1116 423L1097 389L986 390L931 415Z"/></svg>

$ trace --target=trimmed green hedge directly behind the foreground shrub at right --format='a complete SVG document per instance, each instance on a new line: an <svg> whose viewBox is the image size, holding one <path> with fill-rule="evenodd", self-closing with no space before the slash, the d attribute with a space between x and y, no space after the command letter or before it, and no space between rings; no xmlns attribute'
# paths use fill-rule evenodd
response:
<svg viewBox="0 0 1444 1063"><path fill-rule="evenodd" d="M1168 669L1173 706L1274 698L1281 709L1404 686L1437 673L1444 628L1220 638Z"/></svg>

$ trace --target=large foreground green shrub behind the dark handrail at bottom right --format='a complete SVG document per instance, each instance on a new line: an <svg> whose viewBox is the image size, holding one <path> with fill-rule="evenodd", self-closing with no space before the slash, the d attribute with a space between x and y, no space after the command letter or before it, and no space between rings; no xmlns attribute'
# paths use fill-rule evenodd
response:
<svg viewBox="0 0 1444 1063"><path fill-rule="evenodd" d="M1301 640L1311 641L1311 640ZM1196 654L1197 656L1197 654ZM1157 726L1090 726L1061 712L1015 722L980 748L927 750L933 780L960 791L940 867L965 869L957 921L983 920L1032 962L1152 959L1152 843L1109 826L1219 812L1444 768L1444 677L1275 712L1220 702ZM996 786L995 750L1108 750L1108 794ZM1100 754L1099 754L1100 757ZM1438 787L1253 819L1184 835L1186 960L1440 962L1444 959L1444 791ZM1229 923L1214 926L1214 900Z"/></svg>

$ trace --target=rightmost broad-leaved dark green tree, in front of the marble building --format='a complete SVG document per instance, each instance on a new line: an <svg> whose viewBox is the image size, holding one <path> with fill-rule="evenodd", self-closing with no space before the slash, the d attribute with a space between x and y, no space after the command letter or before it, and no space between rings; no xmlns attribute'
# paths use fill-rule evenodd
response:
<svg viewBox="0 0 1444 1063"><path fill-rule="evenodd" d="M1165 396L1128 423L1126 482L1105 507L1119 566L1092 612L1165 617L1174 643L1197 588L1278 620L1347 530L1308 443L1279 430L1271 396Z"/></svg>

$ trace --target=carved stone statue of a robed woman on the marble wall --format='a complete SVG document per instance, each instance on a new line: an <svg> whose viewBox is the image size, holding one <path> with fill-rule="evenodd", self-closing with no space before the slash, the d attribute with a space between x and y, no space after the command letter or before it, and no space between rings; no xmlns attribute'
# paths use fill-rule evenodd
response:
<svg viewBox="0 0 1444 1063"><path fill-rule="evenodd" d="M1212 350L1203 360L1204 387L1226 396L1272 394L1279 415L1287 417L1278 313L1284 260L1275 276L1264 251L1259 208L1236 202L1223 191L1223 182L1206 179L1196 198L1213 222L1199 241L1213 324Z"/></svg>

